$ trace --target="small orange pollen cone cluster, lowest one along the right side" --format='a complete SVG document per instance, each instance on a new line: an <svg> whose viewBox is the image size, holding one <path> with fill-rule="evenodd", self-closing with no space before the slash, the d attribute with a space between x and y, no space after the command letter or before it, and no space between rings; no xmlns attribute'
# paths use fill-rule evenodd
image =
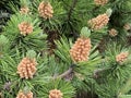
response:
<svg viewBox="0 0 131 98"><path fill-rule="evenodd" d="M129 52L121 52L118 56L116 56L116 61L119 63L122 63L123 61L127 60L128 56L129 56Z"/></svg>

